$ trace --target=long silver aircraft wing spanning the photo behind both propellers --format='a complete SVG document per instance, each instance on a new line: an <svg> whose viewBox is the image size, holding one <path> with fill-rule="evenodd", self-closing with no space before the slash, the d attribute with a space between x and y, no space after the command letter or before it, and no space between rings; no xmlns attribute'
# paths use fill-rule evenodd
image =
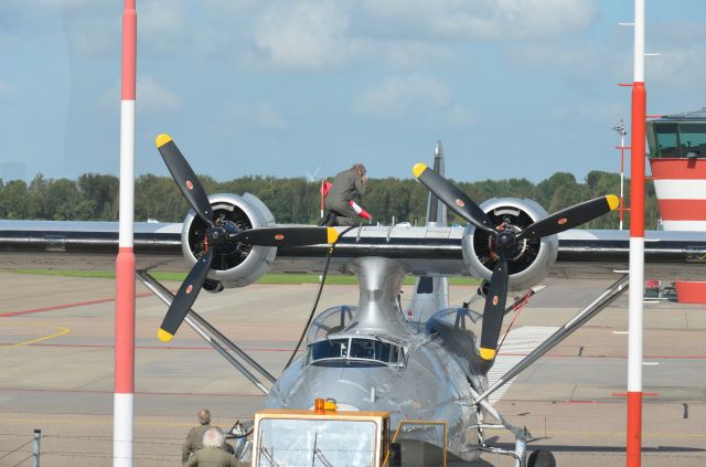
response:
<svg viewBox="0 0 706 467"><path fill-rule="evenodd" d="M136 223L135 251L143 269L188 270L181 223ZM340 231L343 229L341 227ZM362 256L404 263L415 275L469 275L461 252L462 227L363 226L343 236L331 272L346 273ZM569 230L558 235L554 277L600 277L628 268L628 231ZM320 273L328 245L281 247L271 272ZM117 222L0 221L0 268L113 269L118 248ZM648 231L646 277L706 277L706 232Z"/></svg>

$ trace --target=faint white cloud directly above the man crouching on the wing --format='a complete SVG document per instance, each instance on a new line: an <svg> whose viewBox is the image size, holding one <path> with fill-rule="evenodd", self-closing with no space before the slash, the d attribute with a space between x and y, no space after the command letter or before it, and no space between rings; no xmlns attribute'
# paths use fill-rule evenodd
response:
<svg viewBox="0 0 706 467"><path fill-rule="evenodd" d="M359 94L352 106L357 114L383 118L409 118L410 114L417 114L441 116L453 124L471 119L470 113L453 102L443 83L418 74L388 77Z"/></svg>

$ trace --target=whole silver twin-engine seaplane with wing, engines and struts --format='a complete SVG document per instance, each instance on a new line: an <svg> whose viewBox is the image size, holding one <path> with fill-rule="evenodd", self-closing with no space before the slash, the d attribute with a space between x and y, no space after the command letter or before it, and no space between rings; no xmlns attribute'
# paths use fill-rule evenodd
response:
<svg viewBox="0 0 706 467"><path fill-rule="evenodd" d="M186 171L183 166L188 168L188 163L183 157L170 159L178 149L171 138L160 138L158 147L160 152L167 152L162 153L165 162L178 164L176 174L172 167L170 170L180 184L186 177L180 174L180 170ZM435 159L434 172L442 176L440 146L437 146ZM415 176L422 183L422 177L429 178L429 172L415 167ZM188 176L195 177L193 172ZM438 180L429 180L434 188ZM431 188L430 191L434 193ZM456 201L461 208L472 204L470 200ZM223 287L246 286L268 270L320 274L327 253L333 252L328 272L357 275L357 306L335 307L320 314L307 331L304 351L279 378L259 367L258 371L261 370L271 383L269 385L244 371L232 358L224 357L267 394L267 407L310 408L314 399L331 397L341 410L387 411L393 426L405 420L443 422L448 426L445 446L439 445L438 436L425 428L409 429L405 436L445 447L467 460L477 458L481 452L494 452L513 456L520 466L526 461L526 431L507 424L488 403L486 374L492 368L495 348L489 349L482 343L482 337L488 333L484 321L490 322L482 317L490 316L489 307L494 312L499 331L506 312L504 297L509 287L528 289L547 274L567 278L596 277L616 276L616 272L627 269L627 231L570 229L544 237L520 240L509 247L502 261L507 264L503 274L510 286L502 288L498 266L491 262L498 257L499 241L488 240L488 235L495 234L494 226L488 229L491 233L485 237L481 231L486 221L480 222L477 217L468 227L446 226L446 209L434 194L430 194L425 226L360 226L340 237L342 227L331 235L330 231L314 232L310 226L277 225L267 206L247 193L213 194L207 200L204 194L203 199L190 199L190 203L194 209L182 224L137 223L135 227L139 277L146 285L152 285L150 289L170 305L160 338L167 335L165 338L171 339L184 319L192 327L208 329L211 326L191 310L193 300L184 304L181 290L174 297L159 285L154 286L146 270L179 270L184 267L185 259L194 267L184 286L197 283L193 276L203 273L199 289L203 286L207 291L217 293ZM535 225L546 216L546 212L531 200L493 199L481 204L480 210L493 223L509 224L515 238L527 225ZM561 221L566 222L560 219L559 223ZM208 248L204 238L211 238L216 227L228 241L218 244L220 250L213 253L215 244ZM282 241L296 237L302 231L307 232L302 234L303 238L293 244ZM250 236L249 232L253 232ZM263 240L263 235L257 236L258 232L271 232L276 241ZM0 267L111 268L117 253L117 223L0 221ZM321 241L320 234L329 242ZM335 248L332 248L330 243L334 241ZM488 245L491 245L490 256L485 252ZM206 256L207 264L204 262ZM646 274L659 275L662 279L702 278L706 272L706 233L648 232L645 259ZM406 275L419 276L419 279L415 296L403 309L400 285ZM445 276L450 275L471 275L489 280L491 290L495 286L503 293L489 296L499 301L496 299L502 295L502 300L491 305L488 300L483 315L464 307L449 308ZM600 311L624 287L620 285L612 295L599 297L587 314L579 314L580 318L552 336L542 352L530 355L532 358L523 360L510 373L524 370L541 353ZM532 293L527 291L525 297ZM181 309L184 315L174 318L174 309ZM482 332L478 332L481 326ZM213 333L223 338L215 329ZM228 342L227 347L253 364L237 346ZM490 357L489 350L492 350ZM257 363L254 367L258 368ZM489 417L495 423L484 422ZM517 447L514 450L485 444L483 428L498 426L515 435Z"/></svg>

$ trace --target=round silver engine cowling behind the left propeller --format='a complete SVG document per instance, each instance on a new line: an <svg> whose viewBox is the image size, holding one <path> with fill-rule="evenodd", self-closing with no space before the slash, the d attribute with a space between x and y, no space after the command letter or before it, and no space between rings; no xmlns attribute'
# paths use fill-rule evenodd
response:
<svg viewBox="0 0 706 467"><path fill-rule="evenodd" d="M213 208L213 217L227 232L267 227L275 224L275 216L257 197L245 193L217 193L208 197ZM190 211L181 231L181 245L184 258L193 265L205 251L206 225L194 211ZM208 278L217 280L224 287L244 287L253 284L275 263L277 247L234 244L213 259ZM214 290L217 291L217 290Z"/></svg>

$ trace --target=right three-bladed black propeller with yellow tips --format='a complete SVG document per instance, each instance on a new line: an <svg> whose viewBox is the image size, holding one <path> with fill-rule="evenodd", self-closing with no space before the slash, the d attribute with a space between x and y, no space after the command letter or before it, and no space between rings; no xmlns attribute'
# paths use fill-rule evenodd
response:
<svg viewBox="0 0 706 467"><path fill-rule="evenodd" d="M490 278L483 310L480 354L485 361L492 361L495 358L498 339L503 323L505 300L507 299L507 282L510 278L507 258L511 257L518 243L526 240L539 240L573 229L614 210L619 204L618 197L608 194L547 215L521 230L515 225L511 225L509 220L500 225L494 225L478 204L426 164L417 163L411 171L421 184L449 209L491 235L494 248L493 254L496 256L498 262Z"/></svg>

